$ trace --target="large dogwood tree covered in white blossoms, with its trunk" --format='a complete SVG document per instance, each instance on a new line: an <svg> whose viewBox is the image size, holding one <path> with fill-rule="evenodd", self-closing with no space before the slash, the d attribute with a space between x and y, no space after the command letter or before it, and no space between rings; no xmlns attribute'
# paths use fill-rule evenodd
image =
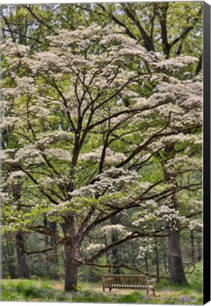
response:
<svg viewBox="0 0 211 306"><path fill-rule="evenodd" d="M166 237L180 230L178 222L193 226L198 209L182 214L168 203L201 185L187 174L201 169L202 86L199 77L186 74L195 57L165 60L118 28L60 30L46 39L45 52L10 40L1 47L1 128L10 135L1 157L2 217L6 231L56 241L26 254L64 246L69 291L81 265L115 246ZM172 159L165 159L172 144ZM166 175L147 181L142 169L156 159ZM15 198L17 183L23 191ZM43 215L59 224L57 232L42 224ZM118 215L122 223L110 225ZM96 237L81 256L96 229L108 237L118 232L118 240L105 245Z"/></svg>

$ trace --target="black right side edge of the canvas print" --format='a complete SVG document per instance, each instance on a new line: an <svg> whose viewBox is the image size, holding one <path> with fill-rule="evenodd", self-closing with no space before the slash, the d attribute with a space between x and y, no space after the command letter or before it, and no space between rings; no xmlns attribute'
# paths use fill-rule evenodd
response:
<svg viewBox="0 0 211 306"><path fill-rule="evenodd" d="M203 302L210 301L210 5L203 3Z"/></svg>

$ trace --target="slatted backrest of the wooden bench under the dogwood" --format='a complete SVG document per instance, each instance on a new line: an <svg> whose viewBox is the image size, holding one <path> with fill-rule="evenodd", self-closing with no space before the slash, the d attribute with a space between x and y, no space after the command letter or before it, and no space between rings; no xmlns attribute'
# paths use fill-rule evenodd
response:
<svg viewBox="0 0 211 306"><path fill-rule="evenodd" d="M147 288L147 276L102 274L102 283L105 288Z"/></svg>

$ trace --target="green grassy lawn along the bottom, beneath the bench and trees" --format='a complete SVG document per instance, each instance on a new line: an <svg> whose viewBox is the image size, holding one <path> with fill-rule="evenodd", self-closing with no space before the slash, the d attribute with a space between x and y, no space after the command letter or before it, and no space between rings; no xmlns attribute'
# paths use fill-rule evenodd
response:
<svg viewBox="0 0 211 306"><path fill-rule="evenodd" d="M156 297L147 297L145 290L114 289L103 293L100 283L79 283L75 293L63 290L64 283L52 280L1 280L1 301L203 304L202 293L193 286L156 284Z"/></svg>

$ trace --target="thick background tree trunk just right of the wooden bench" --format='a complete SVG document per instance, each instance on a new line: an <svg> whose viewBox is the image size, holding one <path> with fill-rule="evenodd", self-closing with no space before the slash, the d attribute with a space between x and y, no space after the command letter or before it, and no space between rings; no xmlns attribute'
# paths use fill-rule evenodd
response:
<svg viewBox="0 0 211 306"><path fill-rule="evenodd" d="M169 235L170 278L169 283L188 284L183 269L180 233L173 230Z"/></svg>

